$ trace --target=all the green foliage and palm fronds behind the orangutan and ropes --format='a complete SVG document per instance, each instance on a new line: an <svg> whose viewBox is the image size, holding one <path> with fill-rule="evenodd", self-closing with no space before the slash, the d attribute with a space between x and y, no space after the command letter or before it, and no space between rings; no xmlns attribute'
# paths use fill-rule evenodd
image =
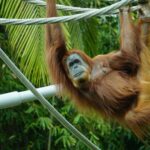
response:
<svg viewBox="0 0 150 150"><path fill-rule="evenodd" d="M100 8L115 1L59 0L58 3ZM59 15L71 12L59 11ZM0 0L1 18L45 17L45 8L27 0ZM118 17L97 16L88 20L64 23L68 48L84 50L95 56L119 47ZM44 25L0 26L0 46L36 87L50 84L45 62ZM23 91L26 88L0 61L0 93ZM52 97L50 103L93 143L104 150L149 149L130 131L114 122L80 114L67 98ZM0 110L1 150L87 150L38 102Z"/></svg>

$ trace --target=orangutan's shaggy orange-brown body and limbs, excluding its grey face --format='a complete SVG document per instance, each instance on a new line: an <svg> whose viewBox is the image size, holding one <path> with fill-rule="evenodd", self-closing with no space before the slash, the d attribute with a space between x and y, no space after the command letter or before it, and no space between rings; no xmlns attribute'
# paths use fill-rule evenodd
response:
<svg viewBox="0 0 150 150"><path fill-rule="evenodd" d="M47 3L47 17L57 16L55 0ZM79 50L67 51L60 25L46 25L47 60L53 81L61 84L79 107L113 117L143 137L150 125L150 36L143 36L146 47L142 24L133 24L128 9L122 10L120 22L120 51L94 58ZM68 77L64 60L72 53L89 65L91 79L84 88L74 87Z"/></svg>

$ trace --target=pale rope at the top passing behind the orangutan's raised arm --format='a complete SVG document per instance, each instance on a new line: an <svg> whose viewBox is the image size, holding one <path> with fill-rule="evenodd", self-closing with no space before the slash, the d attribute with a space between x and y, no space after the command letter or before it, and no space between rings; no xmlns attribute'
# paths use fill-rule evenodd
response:
<svg viewBox="0 0 150 150"><path fill-rule="evenodd" d="M31 4L36 4L37 6L44 6L46 7L46 2L43 0L25 0L28 3ZM99 10L96 8L81 8L81 7L72 7L72 6L65 6L65 5L60 5L60 4L56 4L56 8L59 10L64 10L64 11L73 11L73 12L87 12L89 10ZM134 6L131 8L132 11L136 11L139 10L140 6ZM118 13L119 10L113 11L113 12L108 12L108 14L116 14Z"/></svg>

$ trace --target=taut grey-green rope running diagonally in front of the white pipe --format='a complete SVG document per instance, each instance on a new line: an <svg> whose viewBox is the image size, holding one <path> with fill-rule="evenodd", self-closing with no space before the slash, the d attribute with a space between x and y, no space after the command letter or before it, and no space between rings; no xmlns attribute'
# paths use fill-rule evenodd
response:
<svg viewBox="0 0 150 150"><path fill-rule="evenodd" d="M0 58L7 64L10 70L20 79L20 81L28 88L39 102L47 108L47 110L75 137L81 140L91 150L100 150L89 139L87 139L82 133L80 133L72 124L70 124L32 85L32 83L23 75L23 73L16 67L16 65L10 60L10 58L0 48Z"/></svg>

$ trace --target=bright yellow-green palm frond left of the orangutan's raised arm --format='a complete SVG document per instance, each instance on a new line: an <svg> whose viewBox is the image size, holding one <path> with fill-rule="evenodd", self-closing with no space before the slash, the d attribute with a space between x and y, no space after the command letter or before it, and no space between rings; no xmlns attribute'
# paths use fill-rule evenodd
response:
<svg viewBox="0 0 150 150"><path fill-rule="evenodd" d="M45 16L45 9L22 0L5 0L0 1L0 16L3 18L40 18ZM5 30L13 61L33 83L37 85L48 83L43 53L44 26L8 25Z"/></svg>

